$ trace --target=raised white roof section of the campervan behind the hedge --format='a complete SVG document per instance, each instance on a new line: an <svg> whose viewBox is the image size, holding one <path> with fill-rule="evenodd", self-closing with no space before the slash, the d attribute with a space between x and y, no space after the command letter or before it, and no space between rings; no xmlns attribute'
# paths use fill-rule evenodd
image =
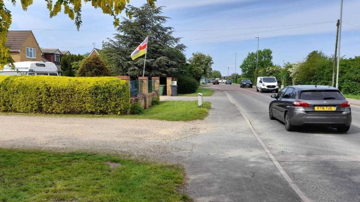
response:
<svg viewBox="0 0 360 202"><path fill-rule="evenodd" d="M17 62L14 63L15 69L12 69L9 65L4 66L4 70L0 72L58 72L58 68L54 63L51 62Z"/></svg>

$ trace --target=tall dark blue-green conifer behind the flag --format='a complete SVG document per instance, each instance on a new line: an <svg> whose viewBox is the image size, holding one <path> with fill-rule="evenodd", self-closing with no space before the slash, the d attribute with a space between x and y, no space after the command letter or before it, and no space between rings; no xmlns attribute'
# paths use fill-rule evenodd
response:
<svg viewBox="0 0 360 202"><path fill-rule="evenodd" d="M172 36L172 27L166 27L168 17L162 16L163 7L144 4L140 8L127 7L131 19L123 18L118 33L103 43L103 58L114 75L141 76L144 56L132 60L131 52L149 36L145 64L146 76L173 76L182 71L186 63L186 46L180 38Z"/></svg>

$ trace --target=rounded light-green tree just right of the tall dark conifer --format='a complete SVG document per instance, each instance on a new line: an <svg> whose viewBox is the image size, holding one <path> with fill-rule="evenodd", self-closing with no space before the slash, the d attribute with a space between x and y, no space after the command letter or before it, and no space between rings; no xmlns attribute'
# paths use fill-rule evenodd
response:
<svg viewBox="0 0 360 202"><path fill-rule="evenodd" d="M202 52L194 52L192 57L189 58L188 74L199 81L201 77L207 77L212 72L212 57L205 55Z"/></svg>

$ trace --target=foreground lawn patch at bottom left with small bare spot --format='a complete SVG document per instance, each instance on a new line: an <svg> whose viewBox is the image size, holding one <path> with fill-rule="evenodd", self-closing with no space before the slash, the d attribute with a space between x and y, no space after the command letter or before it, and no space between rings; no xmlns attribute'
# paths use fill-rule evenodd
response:
<svg viewBox="0 0 360 202"><path fill-rule="evenodd" d="M120 163L111 168L106 162ZM0 201L189 201L175 165L89 153L0 148Z"/></svg>

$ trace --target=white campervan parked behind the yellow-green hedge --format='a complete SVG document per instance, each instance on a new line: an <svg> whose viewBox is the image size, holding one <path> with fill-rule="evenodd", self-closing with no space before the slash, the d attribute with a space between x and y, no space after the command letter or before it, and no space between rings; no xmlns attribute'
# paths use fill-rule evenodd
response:
<svg viewBox="0 0 360 202"><path fill-rule="evenodd" d="M0 75L50 75L58 76L58 68L51 62L17 62L14 63L15 69L9 65L5 65L3 70L0 70Z"/></svg>

